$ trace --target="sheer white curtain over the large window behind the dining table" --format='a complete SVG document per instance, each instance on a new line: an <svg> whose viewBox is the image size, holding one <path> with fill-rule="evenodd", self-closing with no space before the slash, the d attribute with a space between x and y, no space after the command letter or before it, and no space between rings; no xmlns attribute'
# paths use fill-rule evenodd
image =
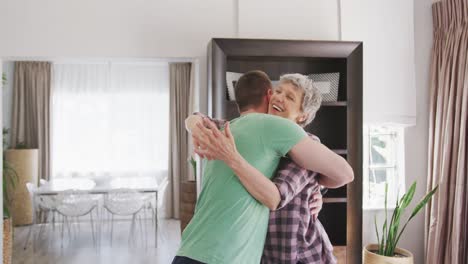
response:
<svg viewBox="0 0 468 264"><path fill-rule="evenodd" d="M51 112L53 178L167 175L167 63L56 63Z"/></svg>

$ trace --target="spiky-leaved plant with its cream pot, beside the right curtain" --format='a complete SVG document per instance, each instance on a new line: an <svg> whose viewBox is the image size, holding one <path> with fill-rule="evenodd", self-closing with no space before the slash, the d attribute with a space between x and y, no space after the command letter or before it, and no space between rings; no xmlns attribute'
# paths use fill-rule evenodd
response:
<svg viewBox="0 0 468 264"><path fill-rule="evenodd" d="M381 236L377 227L377 217L374 218L375 231L377 235L377 244L370 244L364 247L363 250L363 263L374 264L374 263L388 263L388 264L412 264L413 254L405 249L398 248L398 241L401 235L405 231L408 223L413 219L419 211L427 204L432 198L434 193L437 191L436 186L432 191L428 192L423 199L414 207L410 217L406 220L403 228L400 230L400 220L403 216L406 208L411 203L416 191L416 182L414 182L400 199L397 195L397 201L395 210L393 211L390 222L387 220L387 193L388 185L385 185L385 221L382 226Z"/></svg>

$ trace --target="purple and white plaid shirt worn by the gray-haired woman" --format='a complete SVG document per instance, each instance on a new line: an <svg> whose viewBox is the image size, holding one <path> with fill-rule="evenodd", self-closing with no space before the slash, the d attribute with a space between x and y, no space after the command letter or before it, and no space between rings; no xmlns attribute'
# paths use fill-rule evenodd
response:
<svg viewBox="0 0 468 264"><path fill-rule="evenodd" d="M211 121L218 128L226 123L219 119ZM317 173L300 167L289 158L282 158L273 182L278 187L281 202L277 210L270 212L262 264L336 263L325 229L310 215L309 201L320 192Z"/></svg>

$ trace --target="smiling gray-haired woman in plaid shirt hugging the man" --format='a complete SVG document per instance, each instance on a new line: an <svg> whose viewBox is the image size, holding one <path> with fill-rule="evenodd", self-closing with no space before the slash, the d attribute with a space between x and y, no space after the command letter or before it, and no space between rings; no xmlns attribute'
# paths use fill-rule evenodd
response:
<svg viewBox="0 0 468 264"><path fill-rule="evenodd" d="M273 89L268 113L305 127L314 119L320 104L321 95L307 76L285 74ZM220 120L213 121L218 127L223 125ZM239 155L229 128L221 133L213 123L205 122L205 125L210 126L211 131L199 125L201 132L194 134L199 147L196 153L219 160ZM318 140L311 134L309 136ZM281 161L273 182L278 188L280 201L277 209L270 212L262 263L336 263L323 226L309 213L310 201L314 200L314 195L319 196L319 184L336 186L287 157Z"/></svg>

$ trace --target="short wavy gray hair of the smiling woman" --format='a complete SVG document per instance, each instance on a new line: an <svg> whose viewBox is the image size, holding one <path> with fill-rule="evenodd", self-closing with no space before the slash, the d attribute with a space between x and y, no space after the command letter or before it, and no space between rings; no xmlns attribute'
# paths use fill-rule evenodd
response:
<svg viewBox="0 0 468 264"><path fill-rule="evenodd" d="M307 119L299 123L299 125L305 127L310 124L322 103L322 94L315 87L313 81L300 73L288 73L281 75L279 82L290 83L304 92L302 111L307 114Z"/></svg>

